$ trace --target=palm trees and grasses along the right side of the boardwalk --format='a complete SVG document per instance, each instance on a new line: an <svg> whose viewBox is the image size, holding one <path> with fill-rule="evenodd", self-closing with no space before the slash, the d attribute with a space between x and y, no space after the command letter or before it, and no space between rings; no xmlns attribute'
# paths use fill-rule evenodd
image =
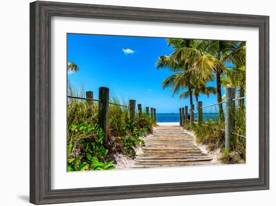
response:
<svg viewBox="0 0 276 206"><path fill-rule="evenodd" d="M173 96L179 95L179 100L189 98L190 105L193 105L195 96L197 111L200 94L216 94L217 103L220 103L225 98L222 88L234 87L237 97L245 96L245 42L167 39L167 44L173 52L160 56L156 66L174 72L162 82L163 89L170 87ZM215 81L216 87L209 85L212 81ZM207 145L210 151L219 149L222 163L244 163L244 99L239 100L239 107L232 113L234 124L229 149L224 149L223 104L218 104L217 119L207 119L202 124L192 124L192 127L189 121L185 121L183 127L192 130L196 141Z"/></svg>

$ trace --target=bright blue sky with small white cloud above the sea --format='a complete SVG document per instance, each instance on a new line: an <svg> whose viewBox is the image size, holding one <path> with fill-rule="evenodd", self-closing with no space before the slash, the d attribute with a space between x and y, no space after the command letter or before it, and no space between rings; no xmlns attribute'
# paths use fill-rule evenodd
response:
<svg viewBox="0 0 276 206"><path fill-rule="evenodd" d="M93 91L95 98L98 88L106 86L120 100L136 99L136 104L154 107L157 113L178 113L190 101L172 97L169 88L163 90L161 82L173 73L155 66L159 56L172 51L165 38L67 34L67 61L79 66L79 71L68 73L68 80L78 90L83 85L85 91ZM216 96L201 94L199 100L209 105ZM218 111L215 108L203 112Z"/></svg>

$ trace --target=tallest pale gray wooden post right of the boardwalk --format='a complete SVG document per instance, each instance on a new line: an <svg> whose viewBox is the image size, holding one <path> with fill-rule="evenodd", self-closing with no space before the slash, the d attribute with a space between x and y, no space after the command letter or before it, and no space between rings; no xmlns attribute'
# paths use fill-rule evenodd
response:
<svg viewBox="0 0 276 206"><path fill-rule="evenodd" d="M235 88L225 88L225 149L231 148L232 129L234 124Z"/></svg>

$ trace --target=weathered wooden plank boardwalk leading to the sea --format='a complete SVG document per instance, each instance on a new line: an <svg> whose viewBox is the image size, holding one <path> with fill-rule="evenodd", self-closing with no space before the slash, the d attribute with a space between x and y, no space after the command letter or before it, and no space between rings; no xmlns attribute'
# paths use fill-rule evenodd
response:
<svg viewBox="0 0 276 206"><path fill-rule="evenodd" d="M143 154L136 157L132 168L209 165L212 157L204 154L193 137L180 126L159 126L146 137Z"/></svg>

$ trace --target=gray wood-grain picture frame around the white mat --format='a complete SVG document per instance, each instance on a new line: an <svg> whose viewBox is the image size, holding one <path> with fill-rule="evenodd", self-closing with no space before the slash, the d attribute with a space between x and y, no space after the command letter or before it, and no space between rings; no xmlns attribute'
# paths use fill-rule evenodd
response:
<svg viewBox="0 0 276 206"><path fill-rule="evenodd" d="M259 30L259 177L51 189L51 17L255 27ZM269 17L57 2L30 4L30 202L34 204L263 190L269 188ZM250 137L249 137L250 138Z"/></svg>

